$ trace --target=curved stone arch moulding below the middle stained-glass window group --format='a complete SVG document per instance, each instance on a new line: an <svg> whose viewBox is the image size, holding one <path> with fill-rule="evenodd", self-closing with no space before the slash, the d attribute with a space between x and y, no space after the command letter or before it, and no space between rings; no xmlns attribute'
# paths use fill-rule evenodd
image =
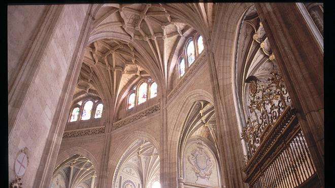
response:
<svg viewBox="0 0 335 188"><path fill-rule="evenodd" d="M115 171L117 170L117 167L123 154L127 151L128 147L138 139L147 140L151 142L156 147L158 154L160 155L160 143L155 139L154 136L144 131L131 132L127 137L124 138L122 144L120 144L115 149L115 151L117 152L114 152L109 158L108 170L107 170L107 177L109 178L106 179L106 187L112 187L114 175L117 175L115 174Z"/></svg>

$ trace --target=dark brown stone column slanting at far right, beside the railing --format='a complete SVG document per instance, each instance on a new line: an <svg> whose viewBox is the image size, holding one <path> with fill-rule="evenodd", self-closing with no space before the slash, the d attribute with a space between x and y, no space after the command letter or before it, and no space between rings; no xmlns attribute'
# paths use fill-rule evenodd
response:
<svg viewBox="0 0 335 188"><path fill-rule="evenodd" d="M256 3L324 186L323 47L298 4Z"/></svg>

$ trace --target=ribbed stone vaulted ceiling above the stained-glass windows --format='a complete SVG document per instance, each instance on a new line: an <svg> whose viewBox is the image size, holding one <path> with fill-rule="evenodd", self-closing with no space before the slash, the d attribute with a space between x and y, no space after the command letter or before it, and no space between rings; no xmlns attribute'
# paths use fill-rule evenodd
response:
<svg viewBox="0 0 335 188"><path fill-rule="evenodd" d="M94 17L74 102L99 96L113 114L127 91L148 77L158 84L159 96L173 82L186 41L206 32L193 26L211 25L213 8L211 3L102 5Z"/></svg>

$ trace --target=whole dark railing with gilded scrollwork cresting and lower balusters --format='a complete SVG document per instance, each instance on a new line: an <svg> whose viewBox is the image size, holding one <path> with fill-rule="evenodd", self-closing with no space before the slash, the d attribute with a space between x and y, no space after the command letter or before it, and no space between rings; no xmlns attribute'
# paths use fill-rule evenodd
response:
<svg viewBox="0 0 335 188"><path fill-rule="evenodd" d="M306 140L277 72L263 83L249 77L249 110L242 139L248 150L244 179L250 187L297 187L318 181Z"/></svg>

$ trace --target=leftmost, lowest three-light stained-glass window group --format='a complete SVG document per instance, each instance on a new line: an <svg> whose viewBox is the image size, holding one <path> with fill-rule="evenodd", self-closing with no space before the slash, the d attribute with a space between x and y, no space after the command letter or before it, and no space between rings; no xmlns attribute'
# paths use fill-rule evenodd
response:
<svg viewBox="0 0 335 188"><path fill-rule="evenodd" d="M73 106L70 115L70 122L90 120L93 118L93 115L94 119L99 119L103 115L103 110L104 104L99 100L81 100Z"/></svg>

